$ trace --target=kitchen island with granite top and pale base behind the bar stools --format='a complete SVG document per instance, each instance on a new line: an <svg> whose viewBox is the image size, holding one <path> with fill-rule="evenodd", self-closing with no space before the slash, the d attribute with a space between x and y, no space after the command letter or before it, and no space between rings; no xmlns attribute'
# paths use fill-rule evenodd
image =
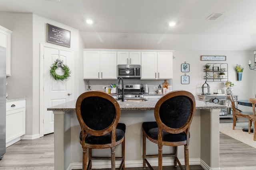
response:
<svg viewBox="0 0 256 170"><path fill-rule="evenodd" d="M125 167L143 167L142 122L154 121L154 106L159 98L147 98L143 102L121 102L120 123L126 124ZM76 117L76 100L53 106L47 110L54 113L54 169L82 169L82 147L80 145L80 125ZM196 100L196 112L190 127L189 164L200 164L206 170L219 168L219 111L226 106ZM147 152L157 154L156 144L147 142ZM121 147L116 148L120 156ZM172 151L164 147L163 153ZM93 150L95 155L110 155L110 149ZM184 164L184 147L178 147L178 156ZM120 162L116 161L116 166ZM157 158L150 160L158 166ZM174 165L170 158L163 158L163 166ZM95 160L92 168L110 168L110 161Z"/></svg>

